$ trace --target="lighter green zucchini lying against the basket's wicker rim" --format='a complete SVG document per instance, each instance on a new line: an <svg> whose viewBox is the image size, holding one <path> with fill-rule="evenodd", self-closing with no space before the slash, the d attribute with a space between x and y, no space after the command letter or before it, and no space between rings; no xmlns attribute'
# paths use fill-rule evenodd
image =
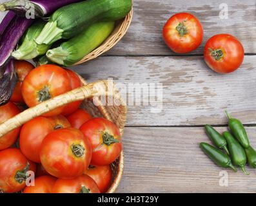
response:
<svg viewBox="0 0 256 206"><path fill-rule="evenodd" d="M71 66L101 45L113 32L114 27L114 21L94 23L84 32L62 43L61 46L48 50L46 56L52 62Z"/></svg>

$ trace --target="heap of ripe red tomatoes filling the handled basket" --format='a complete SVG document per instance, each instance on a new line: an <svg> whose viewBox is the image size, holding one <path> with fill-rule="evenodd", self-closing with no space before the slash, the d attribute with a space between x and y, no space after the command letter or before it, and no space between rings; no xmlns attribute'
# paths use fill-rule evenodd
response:
<svg viewBox="0 0 256 206"><path fill-rule="evenodd" d="M16 61L18 82L8 104L0 107L0 123L21 112L82 86L71 70L54 65L34 68ZM81 101L59 107L26 122L0 138L0 192L106 192L111 165L122 151L119 128L93 118Z"/></svg>

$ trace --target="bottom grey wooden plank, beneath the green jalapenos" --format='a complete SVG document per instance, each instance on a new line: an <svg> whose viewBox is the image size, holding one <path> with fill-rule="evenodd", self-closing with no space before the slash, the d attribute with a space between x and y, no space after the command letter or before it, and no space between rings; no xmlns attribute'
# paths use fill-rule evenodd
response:
<svg viewBox="0 0 256 206"><path fill-rule="evenodd" d="M246 130L255 147L256 127ZM255 169L246 167L250 176L222 169L202 153L200 142L210 143L201 127L126 128L124 175L117 192L255 192ZM219 185L221 171L228 174L228 187Z"/></svg>

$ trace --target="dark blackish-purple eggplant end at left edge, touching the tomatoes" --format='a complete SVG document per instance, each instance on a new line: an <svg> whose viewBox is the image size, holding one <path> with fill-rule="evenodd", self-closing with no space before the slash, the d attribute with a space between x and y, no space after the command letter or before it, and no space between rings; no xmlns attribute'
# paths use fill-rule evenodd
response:
<svg viewBox="0 0 256 206"><path fill-rule="evenodd" d="M11 59L5 67L3 77L0 79L0 106L10 100L16 83L17 75L15 73L14 59Z"/></svg>

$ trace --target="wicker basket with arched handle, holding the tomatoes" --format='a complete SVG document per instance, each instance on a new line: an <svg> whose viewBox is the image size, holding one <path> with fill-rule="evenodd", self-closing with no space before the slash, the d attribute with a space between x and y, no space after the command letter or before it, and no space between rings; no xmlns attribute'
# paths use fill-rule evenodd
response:
<svg viewBox="0 0 256 206"><path fill-rule="evenodd" d="M82 78L81 80L84 85L83 87L47 100L34 108L26 109L22 113L19 113L19 115L16 115L15 117L6 120L3 124L0 124L0 138L35 117L39 117L52 109L77 100L83 100L81 108L86 109L86 111L88 111L93 117L104 117L114 122L119 127L121 135L123 136L127 108L121 98L121 95L114 88L112 80L102 80L92 84L87 84ZM109 100L112 100L114 104L108 106ZM106 104L103 102L106 102ZM107 191L108 193L113 193L117 189L123 174L123 166L124 154L122 151L119 159L112 164L113 180L112 185Z"/></svg>

